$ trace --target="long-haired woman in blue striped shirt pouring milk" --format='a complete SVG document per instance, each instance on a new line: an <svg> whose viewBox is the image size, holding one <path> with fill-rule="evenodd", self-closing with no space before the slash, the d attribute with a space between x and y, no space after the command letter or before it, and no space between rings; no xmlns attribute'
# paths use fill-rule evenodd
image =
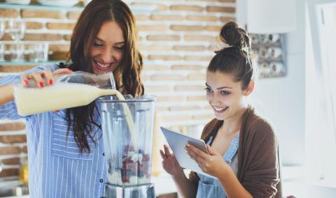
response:
<svg viewBox="0 0 336 198"><path fill-rule="evenodd" d="M54 75L113 72L117 89L141 96L142 58L132 12L120 0L92 0L73 29L69 60L0 79L0 119L26 120L30 197L102 197L106 165L96 102L83 107L19 116L13 84L34 79L43 89ZM45 84L44 82L47 82Z"/></svg>

